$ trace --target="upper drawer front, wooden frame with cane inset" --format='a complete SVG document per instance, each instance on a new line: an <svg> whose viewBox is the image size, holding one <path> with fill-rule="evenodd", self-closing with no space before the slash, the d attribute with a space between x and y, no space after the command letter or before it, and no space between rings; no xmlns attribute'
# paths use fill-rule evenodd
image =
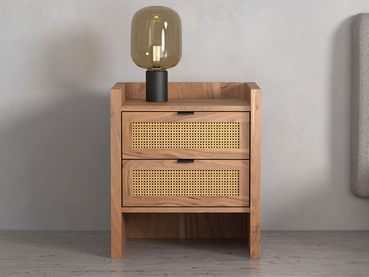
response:
<svg viewBox="0 0 369 277"><path fill-rule="evenodd" d="M122 159L249 159L249 112L122 112Z"/></svg>

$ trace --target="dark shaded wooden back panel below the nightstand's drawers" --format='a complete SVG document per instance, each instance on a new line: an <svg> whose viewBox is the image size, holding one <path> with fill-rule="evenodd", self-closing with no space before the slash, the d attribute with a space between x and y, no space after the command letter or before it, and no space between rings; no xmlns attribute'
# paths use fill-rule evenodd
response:
<svg viewBox="0 0 369 277"><path fill-rule="evenodd" d="M127 238L244 238L244 213L127 213Z"/></svg>

